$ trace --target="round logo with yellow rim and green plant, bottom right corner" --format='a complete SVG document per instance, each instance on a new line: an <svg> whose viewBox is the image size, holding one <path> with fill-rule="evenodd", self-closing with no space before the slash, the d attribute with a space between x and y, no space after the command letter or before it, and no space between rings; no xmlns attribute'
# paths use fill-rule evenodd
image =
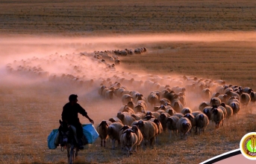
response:
<svg viewBox="0 0 256 164"><path fill-rule="evenodd" d="M240 141L240 151L249 160L256 160L256 132L243 136Z"/></svg>

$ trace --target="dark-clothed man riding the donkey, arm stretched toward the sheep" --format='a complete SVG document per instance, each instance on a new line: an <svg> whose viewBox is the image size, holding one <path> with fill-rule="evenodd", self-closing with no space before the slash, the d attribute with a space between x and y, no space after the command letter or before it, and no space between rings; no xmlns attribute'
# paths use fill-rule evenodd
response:
<svg viewBox="0 0 256 164"><path fill-rule="evenodd" d="M83 127L81 122L78 118L78 113L87 117L89 121L93 124L93 119L87 115L87 111L78 104L78 95L71 94L69 96L69 102L63 106L63 111L61 114L63 122L66 122L68 125L74 129L74 135L76 138L77 146L79 149L84 149L84 142L83 142ZM73 128L74 127L74 128ZM61 134L60 134L61 137ZM61 143L60 143L61 145Z"/></svg>

